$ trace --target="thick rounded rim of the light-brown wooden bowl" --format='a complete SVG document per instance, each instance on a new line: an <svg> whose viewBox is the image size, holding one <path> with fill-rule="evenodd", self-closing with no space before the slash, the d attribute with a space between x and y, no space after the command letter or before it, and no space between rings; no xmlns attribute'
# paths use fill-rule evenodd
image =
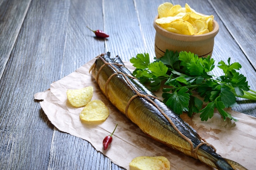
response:
<svg viewBox="0 0 256 170"><path fill-rule="evenodd" d="M204 40L204 39L209 39L209 38L214 38L219 31L219 25L218 22L216 20L213 20L213 30L209 33L206 34L200 34L200 35L184 35L184 34L178 34L178 33L174 33L171 31L167 31L166 29L160 27L155 20L157 20L159 18L159 16L157 15L154 19L153 22L153 26L156 30L157 33L162 34L164 36L166 36L166 34L168 36L171 36L171 38L176 39L176 40L180 40L181 38L184 39L186 38L186 40L194 40L199 38L200 40Z"/></svg>

